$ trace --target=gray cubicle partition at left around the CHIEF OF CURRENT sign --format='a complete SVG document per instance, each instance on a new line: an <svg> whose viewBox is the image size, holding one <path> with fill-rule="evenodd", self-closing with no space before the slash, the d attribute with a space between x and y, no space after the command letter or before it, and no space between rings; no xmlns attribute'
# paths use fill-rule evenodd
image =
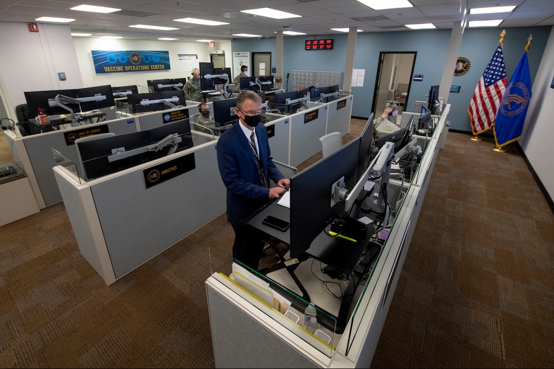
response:
<svg viewBox="0 0 554 369"><path fill-rule="evenodd" d="M66 135L71 132L78 132L85 127L88 130L94 130L100 126L107 125L109 132L114 132L116 135L136 132L135 119L133 117L125 117L122 119L99 122L71 129L60 131L46 132L44 134L24 136L21 138L25 145L25 151L29 157L31 170L37 178L40 194L44 199L45 206L50 206L61 201L61 194L56 183L52 168L59 163L54 159L52 148L59 151L61 155L69 160L78 162L77 150L73 143L68 143L65 139ZM25 171L29 171L25 168ZM35 197L37 194L35 194Z"/></svg>

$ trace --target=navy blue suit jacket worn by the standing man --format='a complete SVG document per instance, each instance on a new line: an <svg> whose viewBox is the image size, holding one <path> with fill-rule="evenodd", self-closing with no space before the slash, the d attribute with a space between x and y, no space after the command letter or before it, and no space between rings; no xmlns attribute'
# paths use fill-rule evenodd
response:
<svg viewBox="0 0 554 369"><path fill-rule="evenodd" d="M271 178L277 183L284 176L271 158L268 132L261 123L255 128L255 132L265 182L269 184ZM269 188L260 186L256 158L239 121L219 137L216 148L219 173L227 187L227 220L231 224L239 225L240 219L269 201Z"/></svg>

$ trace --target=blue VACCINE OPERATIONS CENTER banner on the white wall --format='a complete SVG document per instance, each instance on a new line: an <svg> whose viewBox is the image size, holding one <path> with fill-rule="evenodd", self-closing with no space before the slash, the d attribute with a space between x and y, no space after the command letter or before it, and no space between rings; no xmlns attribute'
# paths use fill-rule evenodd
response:
<svg viewBox="0 0 554 369"><path fill-rule="evenodd" d="M133 71L169 70L167 51L92 50L96 73L125 73Z"/></svg>

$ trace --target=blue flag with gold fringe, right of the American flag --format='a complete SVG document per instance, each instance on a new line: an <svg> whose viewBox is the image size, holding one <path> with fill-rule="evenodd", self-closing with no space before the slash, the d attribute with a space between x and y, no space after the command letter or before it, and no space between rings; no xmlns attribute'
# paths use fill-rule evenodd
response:
<svg viewBox="0 0 554 369"><path fill-rule="evenodd" d="M506 87L493 126L496 147L502 147L520 139L525 115L531 100L531 76L527 50Z"/></svg>

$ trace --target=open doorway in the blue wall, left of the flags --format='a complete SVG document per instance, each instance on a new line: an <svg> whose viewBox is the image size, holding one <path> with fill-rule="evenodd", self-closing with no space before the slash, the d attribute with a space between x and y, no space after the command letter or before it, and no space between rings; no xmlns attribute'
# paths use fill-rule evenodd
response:
<svg viewBox="0 0 554 369"><path fill-rule="evenodd" d="M399 113L406 110L417 52L381 52L373 92L371 111L375 116L391 104L397 104Z"/></svg>

